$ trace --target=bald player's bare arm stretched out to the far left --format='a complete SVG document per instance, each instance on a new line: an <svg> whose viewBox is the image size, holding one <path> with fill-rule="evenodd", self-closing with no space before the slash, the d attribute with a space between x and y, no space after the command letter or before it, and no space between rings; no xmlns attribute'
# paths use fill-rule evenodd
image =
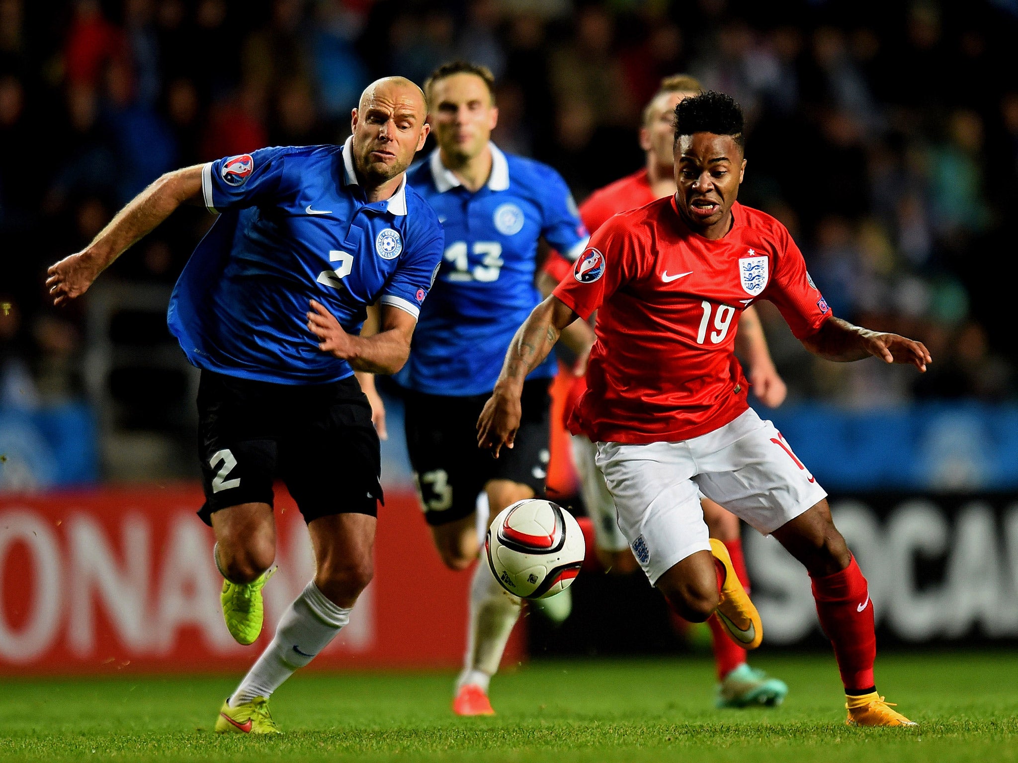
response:
<svg viewBox="0 0 1018 763"><path fill-rule="evenodd" d="M168 172L131 199L81 251L47 271L53 304L84 294L99 274L127 248L168 218L184 201L202 193L202 165Z"/></svg>

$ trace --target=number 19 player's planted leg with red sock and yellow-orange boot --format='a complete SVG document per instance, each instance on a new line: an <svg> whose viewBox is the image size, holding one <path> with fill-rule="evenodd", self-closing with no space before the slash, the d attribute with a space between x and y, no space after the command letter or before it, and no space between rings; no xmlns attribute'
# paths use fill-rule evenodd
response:
<svg viewBox="0 0 1018 763"><path fill-rule="evenodd" d="M873 605L869 588L826 500L774 531L774 536L806 568L821 626L834 646L852 725L914 725L876 693L873 660Z"/></svg>

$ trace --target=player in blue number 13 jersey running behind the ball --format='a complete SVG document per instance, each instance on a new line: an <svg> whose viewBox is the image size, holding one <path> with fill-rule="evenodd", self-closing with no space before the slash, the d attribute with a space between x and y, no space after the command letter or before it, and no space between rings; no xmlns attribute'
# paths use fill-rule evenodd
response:
<svg viewBox="0 0 1018 763"><path fill-rule="evenodd" d="M492 514L544 493L554 359L535 365L522 383L519 436L506 458L493 460L477 448L474 424L513 334L541 301L539 239L575 258L587 234L555 170L491 141L498 108L487 68L446 64L425 91L438 149L408 176L442 221L445 255L399 382L407 389L406 446L425 517L442 561L465 570L488 529L484 502L475 511L478 493L487 493ZM476 566L457 714L494 712L489 683L520 604L487 565Z"/></svg>

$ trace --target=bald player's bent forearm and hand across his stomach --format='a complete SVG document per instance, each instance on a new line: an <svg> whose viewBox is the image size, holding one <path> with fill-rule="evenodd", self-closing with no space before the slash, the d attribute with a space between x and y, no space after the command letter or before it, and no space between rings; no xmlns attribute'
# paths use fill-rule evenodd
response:
<svg viewBox="0 0 1018 763"><path fill-rule="evenodd" d="M354 370L395 373L410 356L410 338L417 319L410 313L382 305L382 327L371 337L347 334L324 305L310 301L307 328L319 338L319 349L349 361Z"/></svg>

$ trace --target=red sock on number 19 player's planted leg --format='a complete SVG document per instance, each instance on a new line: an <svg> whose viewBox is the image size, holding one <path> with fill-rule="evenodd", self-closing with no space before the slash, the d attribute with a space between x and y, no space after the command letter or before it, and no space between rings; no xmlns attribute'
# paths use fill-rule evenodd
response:
<svg viewBox="0 0 1018 763"><path fill-rule="evenodd" d="M824 633L834 645L846 694L872 691L876 635L869 586L855 556L840 573L812 578L816 613Z"/></svg>

